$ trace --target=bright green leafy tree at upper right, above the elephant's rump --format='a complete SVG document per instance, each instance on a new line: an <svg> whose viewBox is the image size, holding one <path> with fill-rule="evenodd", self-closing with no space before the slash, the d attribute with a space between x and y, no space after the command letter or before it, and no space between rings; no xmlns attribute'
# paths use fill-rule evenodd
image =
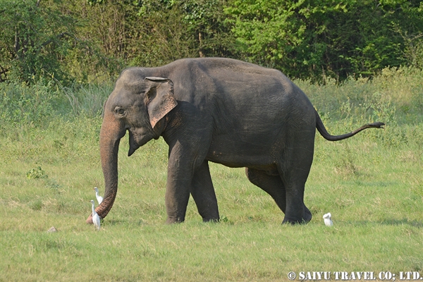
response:
<svg viewBox="0 0 423 282"><path fill-rule="evenodd" d="M405 0L235 0L225 11L246 60L297 78L346 78L405 64L405 42L393 26L418 35L422 7Z"/></svg>

